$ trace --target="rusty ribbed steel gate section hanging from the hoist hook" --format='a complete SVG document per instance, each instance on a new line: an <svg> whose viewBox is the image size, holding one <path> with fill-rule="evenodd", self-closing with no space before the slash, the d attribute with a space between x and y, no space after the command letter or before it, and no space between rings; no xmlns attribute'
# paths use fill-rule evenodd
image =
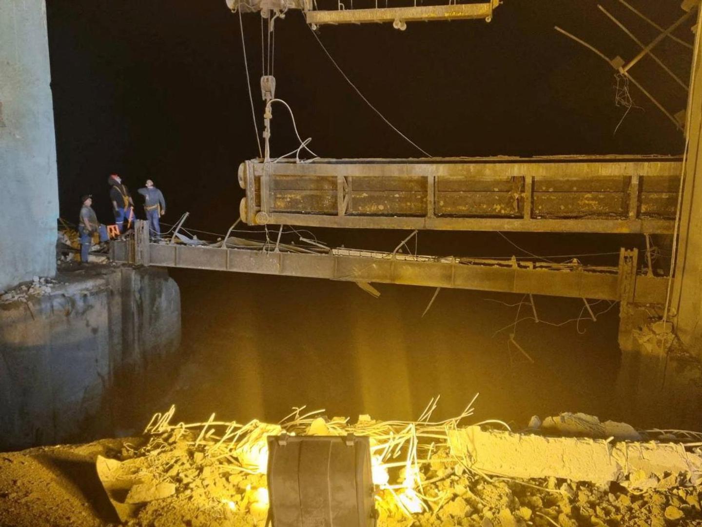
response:
<svg viewBox="0 0 702 527"><path fill-rule="evenodd" d="M673 232L679 157L312 160L239 167L249 225Z"/></svg>

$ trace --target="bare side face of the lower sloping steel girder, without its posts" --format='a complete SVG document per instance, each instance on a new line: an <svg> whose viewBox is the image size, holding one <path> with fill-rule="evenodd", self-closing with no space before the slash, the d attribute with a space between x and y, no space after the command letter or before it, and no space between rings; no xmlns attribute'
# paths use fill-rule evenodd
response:
<svg viewBox="0 0 702 527"><path fill-rule="evenodd" d="M387 252L331 249L328 254L265 252L253 249L192 247L150 243L152 266L233 271L347 282L376 282L493 292L545 294L619 300L617 268L465 258L436 258ZM135 263L143 253L133 240L114 241L112 261ZM637 275L633 299L639 304L665 300L665 278Z"/></svg>

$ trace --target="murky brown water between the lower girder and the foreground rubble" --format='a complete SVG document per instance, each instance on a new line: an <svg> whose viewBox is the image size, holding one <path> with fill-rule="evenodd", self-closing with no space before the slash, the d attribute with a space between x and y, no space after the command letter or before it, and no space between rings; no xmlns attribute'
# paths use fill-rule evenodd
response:
<svg viewBox="0 0 702 527"><path fill-rule="evenodd" d="M329 417L413 419L440 395L435 415L451 417L480 393L475 419L518 427L531 415L583 411L637 427L702 428L689 412L638 408L629 391L640 379L621 375L617 306L597 323L520 323L515 340L531 363L508 348L511 330L498 332L517 314L498 301L513 304L517 295L444 289L422 318L434 289L378 285L376 299L324 280L171 274L182 294L185 356L171 389L143 401L142 415L175 403L185 422L211 412L277 421L301 405ZM551 323L577 318L583 306L534 298L538 317ZM520 318L529 314L522 306Z"/></svg>

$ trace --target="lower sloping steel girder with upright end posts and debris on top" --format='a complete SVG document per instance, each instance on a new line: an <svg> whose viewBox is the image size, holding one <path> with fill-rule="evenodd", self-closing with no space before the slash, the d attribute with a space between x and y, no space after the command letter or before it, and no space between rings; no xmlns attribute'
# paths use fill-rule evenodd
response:
<svg viewBox="0 0 702 527"><path fill-rule="evenodd" d="M229 233L223 240L207 243L178 235L177 230L171 240L154 242L147 222L140 220L133 236L111 242L110 259L145 266L326 278L353 282L366 290L378 282L581 298L590 313L588 299L620 301L623 349L632 346L631 333L642 316L636 306L663 304L668 287L667 278L639 269L637 249L621 249L615 267L583 265L576 259L566 263L505 261L403 254L397 249L331 248L317 243L301 247L281 244L279 238L270 244L254 244L230 238ZM591 317L595 320L595 315Z"/></svg>

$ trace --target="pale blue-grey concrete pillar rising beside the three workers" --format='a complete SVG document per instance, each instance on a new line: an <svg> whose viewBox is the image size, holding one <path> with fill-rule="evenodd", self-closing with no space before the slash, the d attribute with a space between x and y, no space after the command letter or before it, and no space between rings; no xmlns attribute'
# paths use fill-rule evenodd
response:
<svg viewBox="0 0 702 527"><path fill-rule="evenodd" d="M0 1L0 290L56 272L50 82L44 0Z"/></svg>

